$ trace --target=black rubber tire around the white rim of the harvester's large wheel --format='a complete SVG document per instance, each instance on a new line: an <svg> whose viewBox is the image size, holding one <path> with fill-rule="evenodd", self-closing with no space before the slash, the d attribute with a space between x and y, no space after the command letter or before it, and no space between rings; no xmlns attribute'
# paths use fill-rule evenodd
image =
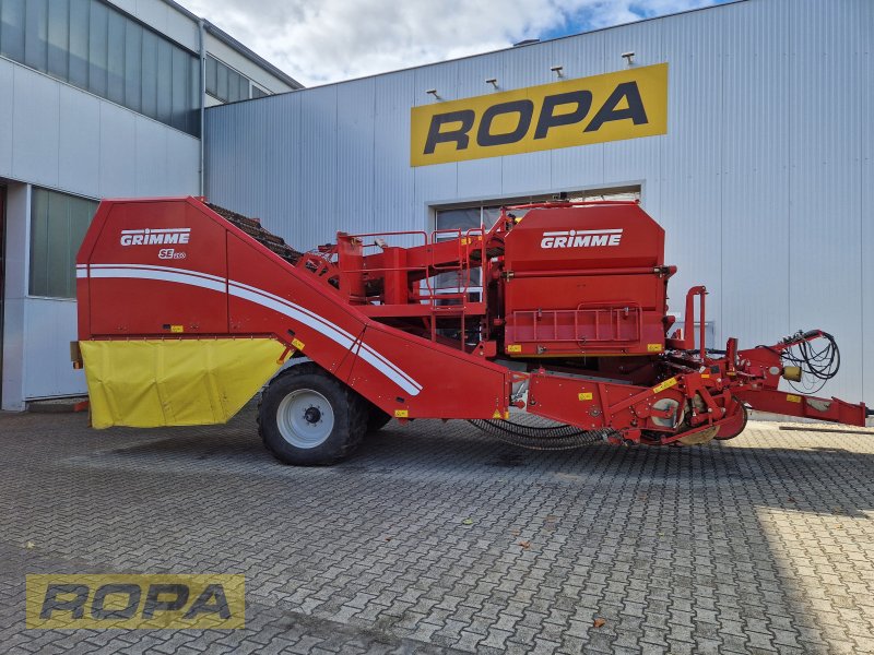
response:
<svg viewBox="0 0 874 655"><path fill-rule="evenodd" d="M311 389L331 405L334 426L331 433L314 448L296 446L282 436L276 414L280 403L293 391ZM322 466L347 457L357 448L367 429L366 402L349 386L312 362L293 366L268 384L258 403L258 433L267 449L284 464Z"/></svg>

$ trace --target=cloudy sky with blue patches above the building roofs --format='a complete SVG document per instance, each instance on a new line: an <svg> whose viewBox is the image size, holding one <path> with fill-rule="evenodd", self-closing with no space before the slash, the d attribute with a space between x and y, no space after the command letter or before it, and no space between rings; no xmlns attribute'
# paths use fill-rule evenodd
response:
<svg viewBox="0 0 874 655"><path fill-rule="evenodd" d="M181 0L306 86L727 0Z"/></svg>

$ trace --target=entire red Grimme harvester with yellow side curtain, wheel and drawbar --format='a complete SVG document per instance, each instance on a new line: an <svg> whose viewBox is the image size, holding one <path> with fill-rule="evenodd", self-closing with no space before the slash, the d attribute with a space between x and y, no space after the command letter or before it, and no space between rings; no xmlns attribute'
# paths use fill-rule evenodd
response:
<svg viewBox="0 0 874 655"><path fill-rule="evenodd" d="M98 428L223 422L269 381L260 433L294 464L343 457L391 418L468 419L534 448L731 439L748 407L865 424L863 404L778 390L837 372L828 334L708 349L706 290L674 325L663 258L634 202L339 233L300 253L199 199L104 201L76 260L74 361Z"/></svg>

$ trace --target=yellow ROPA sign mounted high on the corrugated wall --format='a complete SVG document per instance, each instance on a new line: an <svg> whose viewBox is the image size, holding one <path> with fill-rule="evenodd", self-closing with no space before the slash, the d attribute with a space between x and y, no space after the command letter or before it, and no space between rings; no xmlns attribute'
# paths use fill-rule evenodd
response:
<svg viewBox="0 0 874 655"><path fill-rule="evenodd" d="M412 109L411 166L668 133L668 64Z"/></svg>

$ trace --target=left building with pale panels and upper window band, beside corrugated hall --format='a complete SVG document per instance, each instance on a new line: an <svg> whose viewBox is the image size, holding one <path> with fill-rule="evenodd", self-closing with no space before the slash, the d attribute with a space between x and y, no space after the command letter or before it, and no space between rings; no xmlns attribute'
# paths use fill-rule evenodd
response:
<svg viewBox="0 0 874 655"><path fill-rule="evenodd" d="M0 0L3 409L85 391L69 343L97 201L201 194L201 109L299 87L175 2Z"/></svg>

